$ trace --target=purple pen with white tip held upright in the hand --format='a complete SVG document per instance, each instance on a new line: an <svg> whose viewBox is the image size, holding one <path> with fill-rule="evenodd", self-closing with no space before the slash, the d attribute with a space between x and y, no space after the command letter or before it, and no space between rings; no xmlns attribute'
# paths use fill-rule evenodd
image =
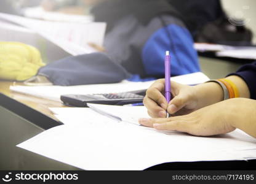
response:
<svg viewBox="0 0 256 184"><path fill-rule="evenodd" d="M166 51L166 58L164 60L164 66L165 66L165 74L166 74L166 85L165 85L165 94L166 94L166 101L169 104L170 102L170 52ZM170 115L168 112L166 112L166 118L169 118Z"/></svg>

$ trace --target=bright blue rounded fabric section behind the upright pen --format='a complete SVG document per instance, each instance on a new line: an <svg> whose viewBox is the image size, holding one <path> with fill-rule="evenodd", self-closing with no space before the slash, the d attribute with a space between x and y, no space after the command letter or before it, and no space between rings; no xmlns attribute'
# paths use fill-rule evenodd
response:
<svg viewBox="0 0 256 184"><path fill-rule="evenodd" d="M186 28L172 24L161 28L147 40L142 60L147 75L164 75L164 53L170 51L172 75L200 71L198 55Z"/></svg>

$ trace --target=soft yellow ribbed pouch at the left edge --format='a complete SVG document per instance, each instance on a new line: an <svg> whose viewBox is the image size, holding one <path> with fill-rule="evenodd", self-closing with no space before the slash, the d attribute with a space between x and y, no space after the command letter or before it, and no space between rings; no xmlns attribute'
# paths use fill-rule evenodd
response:
<svg viewBox="0 0 256 184"><path fill-rule="evenodd" d="M37 48L18 42L0 42L0 79L30 79L44 65Z"/></svg>

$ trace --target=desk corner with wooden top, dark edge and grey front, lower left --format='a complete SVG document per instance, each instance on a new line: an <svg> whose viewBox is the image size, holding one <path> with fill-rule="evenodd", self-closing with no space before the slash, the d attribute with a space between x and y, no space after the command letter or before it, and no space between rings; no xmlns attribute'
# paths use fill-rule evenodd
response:
<svg viewBox="0 0 256 184"><path fill-rule="evenodd" d="M0 93L6 95L0 95L0 170L77 170L76 167L16 147L44 129L59 125L48 107L64 106L58 102L12 93L10 85L14 83L0 82Z"/></svg>

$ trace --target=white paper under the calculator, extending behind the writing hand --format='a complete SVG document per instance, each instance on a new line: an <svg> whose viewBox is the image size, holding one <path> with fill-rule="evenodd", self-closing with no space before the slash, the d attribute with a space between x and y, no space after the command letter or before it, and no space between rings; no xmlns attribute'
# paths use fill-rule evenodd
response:
<svg viewBox="0 0 256 184"><path fill-rule="evenodd" d="M171 80L193 85L204 83L209 78L202 72L180 75L172 77ZM154 81L150 82L128 82L99 84L99 85L79 85L79 86L10 86L10 90L30 94L39 98L51 99L60 102L60 96L64 94L94 94L94 93L121 93L126 91L143 90L150 87Z"/></svg>

